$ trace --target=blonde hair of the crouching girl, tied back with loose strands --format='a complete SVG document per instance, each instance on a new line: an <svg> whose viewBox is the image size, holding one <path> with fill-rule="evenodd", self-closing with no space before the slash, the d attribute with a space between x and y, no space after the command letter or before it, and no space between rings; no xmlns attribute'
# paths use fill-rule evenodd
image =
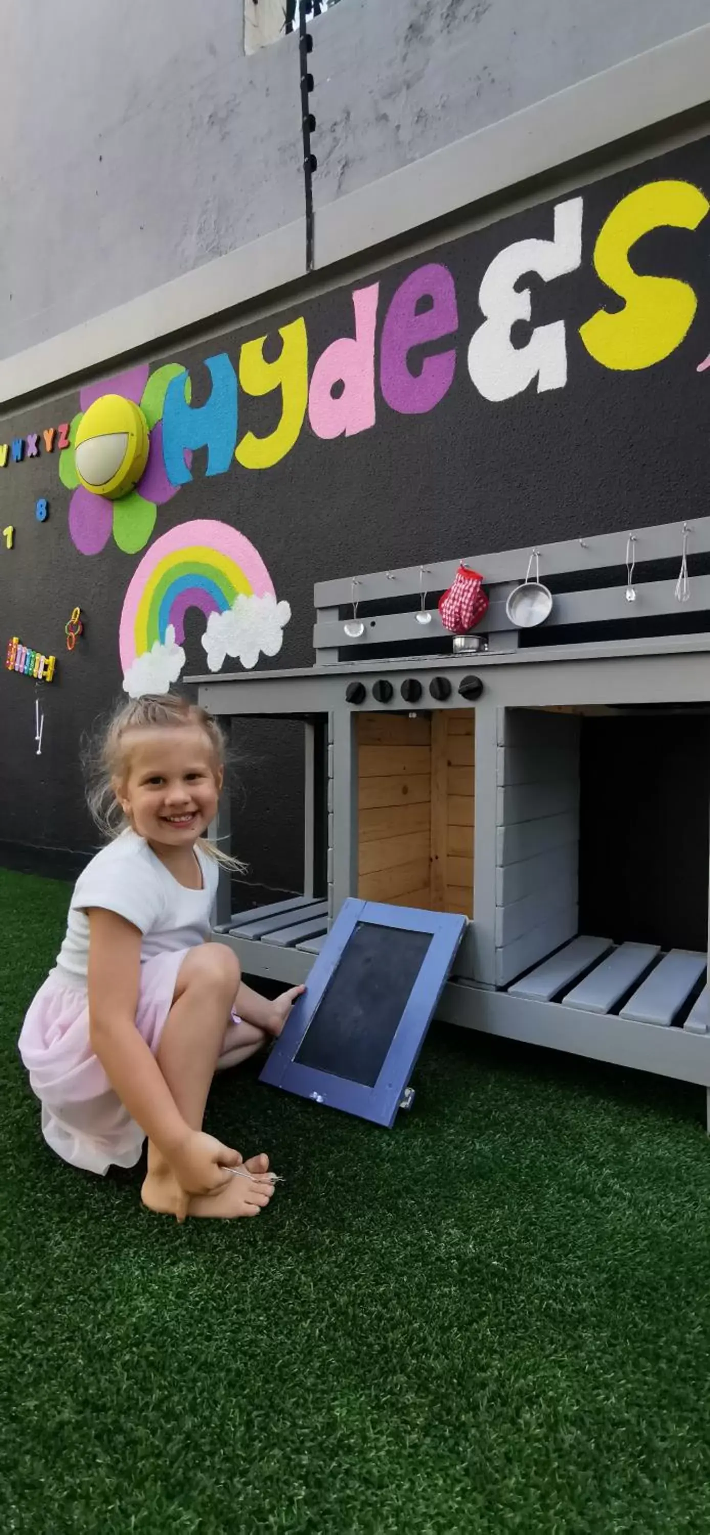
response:
<svg viewBox="0 0 710 1535"><path fill-rule="evenodd" d="M113 789L113 781L126 768L124 737L129 731L159 731L176 726L196 726L204 731L215 755L215 769L224 772L228 752L219 725L212 718L212 714L207 714L207 709L201 709L199 705L190 703L189 698L176 692L146 694L144 698L130 698L129 703L117 705L103 731L84 748L86 800L98 829L109 841L120 837L129 824ZM222 852L207 837L198 837L198 847L224 869L245 873L247 866L239 858Z"/></svg>

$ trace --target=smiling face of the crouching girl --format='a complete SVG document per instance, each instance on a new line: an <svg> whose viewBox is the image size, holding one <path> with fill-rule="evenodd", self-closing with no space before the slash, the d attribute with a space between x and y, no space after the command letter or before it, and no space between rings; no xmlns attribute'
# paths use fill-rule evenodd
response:
<svg viewBox="0 0 710 1535"><path fill-rule="evenodd" d="M190 846L216 815L222 769L199 725L130 729L113 780L126 820L147 843Z"/></svg>

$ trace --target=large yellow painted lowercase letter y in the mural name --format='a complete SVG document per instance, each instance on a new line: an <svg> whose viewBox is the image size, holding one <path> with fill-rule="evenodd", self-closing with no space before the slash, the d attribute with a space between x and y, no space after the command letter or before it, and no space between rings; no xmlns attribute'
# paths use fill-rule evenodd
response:
<svg viewBox="0 0 710 1535"><path fill-rule="evenodd" d="M239 384L247 394L271 394L281 390L281 418L268 437L247 431L235 450L235 457L247 470L268 470L279 464L299 439L308 404L308 336L305 319L282 325L281 356L274 362L264 358L265 336L247 341L239 355Z"/></svg>

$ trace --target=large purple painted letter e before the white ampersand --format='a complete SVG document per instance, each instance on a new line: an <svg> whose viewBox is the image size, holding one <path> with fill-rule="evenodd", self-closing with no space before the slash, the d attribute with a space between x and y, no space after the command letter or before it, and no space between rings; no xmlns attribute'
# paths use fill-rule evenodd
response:
<svg viewBox="0 0 710 1535"><path fill-rule="evenodd" d="M417 315L422 298L431 298L431 309ZM434 410L451 388L455 352L439 352L423 358L419 373L413 373L408 355L426 341L442 341L459 328L454 278L448 267L431 262L417 267L397 289L382 327L380 387L386 404L400 416L423 416Z"/></svg>

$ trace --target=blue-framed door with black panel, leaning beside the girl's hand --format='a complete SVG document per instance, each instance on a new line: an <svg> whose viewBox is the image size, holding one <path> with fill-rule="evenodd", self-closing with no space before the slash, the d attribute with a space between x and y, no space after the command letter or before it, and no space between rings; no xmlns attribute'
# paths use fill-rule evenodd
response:
<svg viewBox="0 0 710 1535"><path fill-rule="evenodd" d="M466 926L347 900L259 1081L391 1127Z"/></svg>

